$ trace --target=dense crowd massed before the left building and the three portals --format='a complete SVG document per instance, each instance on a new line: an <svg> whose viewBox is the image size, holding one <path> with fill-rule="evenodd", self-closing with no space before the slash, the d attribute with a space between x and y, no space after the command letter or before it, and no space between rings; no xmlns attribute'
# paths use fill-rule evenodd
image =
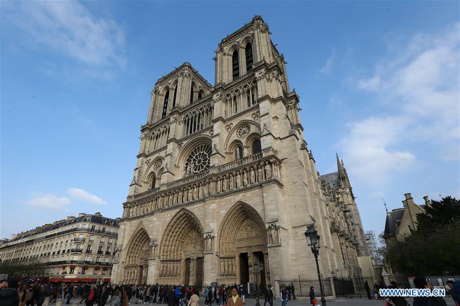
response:
<svg viewBox="0 0 460 306"><path fill-rule="evenodd" d="M241 300L234 298L234 292ZM206 306L242 306L245 304L245 287L242 285L206 286L202 292ZM289 289L289 292L292 291ZM49 306L62 299L70 304L79 300L86 306L128 306L135 298L135 304L167 304L168 306L198 306L199 288L170 285L111 285L83 283L40 283L17 282L15 279L0 281L0 306ZM266 286L265 303L273 306L273 291ZM237 303L237 304L235 304Z"/></svg>

